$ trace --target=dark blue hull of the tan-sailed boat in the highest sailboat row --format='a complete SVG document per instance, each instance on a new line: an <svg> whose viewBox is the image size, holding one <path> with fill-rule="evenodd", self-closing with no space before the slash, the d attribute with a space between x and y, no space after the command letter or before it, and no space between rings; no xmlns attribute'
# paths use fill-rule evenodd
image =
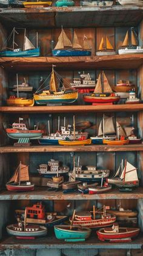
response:
<svg viewBox="0 0 143 256"><path fill-rule="evenodd" d="M53 56L90 56L91 51L76 51L73 49L70 50L53 50Z"/></svg>

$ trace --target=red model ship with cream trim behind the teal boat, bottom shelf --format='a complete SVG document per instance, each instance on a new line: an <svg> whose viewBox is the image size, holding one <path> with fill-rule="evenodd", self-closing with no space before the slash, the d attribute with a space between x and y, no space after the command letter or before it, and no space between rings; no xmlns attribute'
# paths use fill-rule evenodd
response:
<svg viewBox="0 0 143 256"><path fill-rule="evenodd" d="M95 210L95 207L93 207L93 216L91 212L76 213L73 219L73 226L80 225L82 227L89 227L90 229L111 226L116 221L116 216L106 213L108 208L108 206L104 205L103 210ZM71 219L70 217L70 222Z"/></svg>

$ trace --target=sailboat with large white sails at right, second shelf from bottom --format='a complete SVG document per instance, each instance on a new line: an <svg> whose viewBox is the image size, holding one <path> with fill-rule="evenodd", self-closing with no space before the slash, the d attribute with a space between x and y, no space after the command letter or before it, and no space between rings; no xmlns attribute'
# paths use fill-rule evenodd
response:
<svg viewBox="0 0 143 256"><path fill-rule="evenodd" d="M127 160L125 160L123 168L122 160L115 175L107 179L107 182L118 186L121 191L132 191L139 186L137 169L135 166L131 165L131 163L127 162Z"/></svg>

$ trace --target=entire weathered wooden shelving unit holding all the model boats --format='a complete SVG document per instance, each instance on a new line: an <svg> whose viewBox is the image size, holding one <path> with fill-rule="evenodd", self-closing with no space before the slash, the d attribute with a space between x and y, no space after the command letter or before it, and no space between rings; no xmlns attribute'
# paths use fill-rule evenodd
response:
<svg viewBox="0 0 143 256"><path fill-rule="evenodd" d="M78 1L76 1L78 4ZM54 41L58 38L59 30L61 25L67 28L75 28L78 24L78 33L83 34L88 31L90 41L93 40L93 45L99 43L96 38L95 27L97 33L100 35L99 28L104 27L109 29L108 33L113 40L113 31L116 34L116 39L113 40L116 49L119 48L118 40L121 41L125 30L130 26L135 26L138 29L140 41L143 39L143 7L123 7L113 6L104 8L95 7L70 7L70 8L40 8L40 9L0 9L0 43L5 41L7 32L10 32L13 26L26 27L28 33L33 37L36 29L39 30L39 41L41 43L42 56L33 58L0 58L1 66L1 85L0 85L0 121L3 124L5 121L12 121L18 118L19 115L24 118L35 119L38 115L39 119L47 119L49 117L52 120L53 127L56 126L56 118L61 115L69 115L70 120L73 113L77 115L77 118L90 118L97 121L101 119L102 113L107 112L107 115L112 113L116 118L120 118L122 121L124 118L130 119L131 113L134 113L135 126L138 130L138 135L143 137L143 104L135 105L105 105L105 106L91 106L91 105L72 105L72 106L35 106L35 107L7 107L5 105L5 99L7 98L8 84L13 81L15 73L28 73L29 78L35 83L35 75L40 76L40 72L47 74L51 69L52 64L56 65L56 68L68 77L68 80L72 80L73 76L76 76L76 70L90 70L95 76L95 69L106 69L108 78L113 83L119 78L119 74L124 74L128 79L134 79L134 82L138 85L139 97L143 100L143 55L142 54L131 54L131 55L113 55L107 56L95 56L95 49L91 57L67 57L58 58L51 56L51 43L52 37ZM47 29L48 28L48 29ZM124 32L122 32L122 29ZM71 29L70 29L71 30ZM50 51L47 51L47 48ZM113 71L114 70L114 71ZM119 73L119 74L118 74ZM122 79L122 77L120 77ZM12 80L12 81L11 81ZM121 116L119 116L121 115ZM41 117L42 116L42 117ZM86 152L91 154L91 163L95 163L98 166L102 165L105 156L110 157L110 164L108 168L112 171L115 170L119 164L119 160L122 157L130 157L130 160L138 166L141 187L133 193L121 193L119 190L113 189L110 193L98 194L98 195L82 195L78 193L74 194L62 194L62 192L54 193L47 191L46 188L36 187L35 191L29 193L10 193L9 191L2 190L0 192L0 205L1 212L2 207L4 217L1 219L0 228L2 229L7 221L10 221L8 212L10 201L15 204L16 201L28 201L28 200L45 200L61 201L63 205L65 202L75 201L75 207L82 205L83 202L91 205L90 202L98 203L105 200L108 204L118 204L118 201L122 199L123 205L131 207L136 205L139 210L139 225L143 230L142 223L142 205L143 205L143 144L137 145L126 145L126 146L83 146L83 147L66 147L66 146L39 146L38 144L33 145L29 148L16 148L9 143L5 135L4 129L0 124L0 173L1 173L1 188L4 188L5 182L8 180L9 172L12 172L18 163L19 159L22 159L25 163L33 165L33 159L38 161L40 157L61 157L64 154L65 162L70 160L70 152L75 154L83 154ZM125 123L124 123L125 124ZM92 131L93 132L93 131ZM76 153L77 152L77 153ZM36 157L35 157L36 155ZM119 160L118 160L119 158ZM63 160L64 158L62 158ZM85 160L83 164L85 164ZM39 162L36 162L36 164ZM35 166L33 166L34 168ZM10 169L12 168L12 170ZM32 168L31 168L32 169ZM130 199L130 200L129 200ZM87 201L88 200L88 201ZM109 200L109 201L107 201ZM77 203L76 203L77 201ZM7 205L4 207L5 202ZM134 202L134 203L132 203ZM59 206L56 209L61 209ZM60 211L60 210L59 210ZM62 211L62 210L61 210ZM35 241L19 241L13 237L2 237L0 242L0 250L7 249L143 249L143 235L141 234L135 241L131 243L111 244L101 243L97 240L95 233L85 243L64 243L56 240L55 236L48 233L47 237L38 238ZM118 251L119 252L119 251ZM28 254L26 254L28 255ZM50 254L49 254L50 255Z"/></svg>

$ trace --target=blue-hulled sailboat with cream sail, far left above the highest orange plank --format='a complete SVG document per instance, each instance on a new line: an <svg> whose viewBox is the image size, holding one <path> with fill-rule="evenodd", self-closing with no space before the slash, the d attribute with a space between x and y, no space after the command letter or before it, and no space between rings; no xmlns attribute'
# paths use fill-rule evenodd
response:
<svg viewBox="0 0 143 256"><path fill-rule="evenodd" d="M15 48L15 46L18 47L18 43L15 42L15 37L16 35L18 35L18 31L21 28L13 28L10 36L7 38L7 40L5 41L4 47L5 50L1 49L0 51L0 56L1 57L37 57L39 56L39 47L38 45L35 46L32 44L32 42L28 39L28 37L26 37L26 29L22 29L24 30L24 46L23 49L21 48ZM37 39L36 42L38 44L38 34L37 35ZM12 48L8 48L6 46L6 43L8 43L8 41L10 40L10 38L13 38L13 43L12 43ZM8 49L8 50L7 50Z"/></svg>

